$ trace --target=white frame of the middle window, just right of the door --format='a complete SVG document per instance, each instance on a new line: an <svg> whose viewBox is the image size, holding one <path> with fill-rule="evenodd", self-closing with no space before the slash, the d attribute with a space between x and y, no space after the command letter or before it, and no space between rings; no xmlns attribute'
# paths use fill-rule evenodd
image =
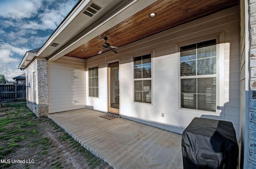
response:
<svg viewBox="0 0 256 169"><path fill-rule="evenodd" d="M140 57L140 56L144 56L144 55L149 55L150 54L150 64L151 64L151 77L147 77L147 78L134 78L134 58L135 57ZM132 96L133 96L133 102L134 103L137 103L137 104L145 104L145 105L153 105L153 66L152 66L152 63L153 63L153 51L150 51L150 52L144 52L144 53L140 53L140 54L137 54L137 55L132 55ZM148 81L150 80L151 81L151 102L138 102L138 101L135 101L135 81ZM142 89L143 90L143 89Z"/></svg>

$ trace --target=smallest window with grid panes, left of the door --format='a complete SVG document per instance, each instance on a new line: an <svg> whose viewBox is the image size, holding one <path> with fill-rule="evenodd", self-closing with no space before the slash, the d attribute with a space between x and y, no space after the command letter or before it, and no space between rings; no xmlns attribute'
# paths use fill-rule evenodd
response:
<svg viewBox="0 0 256 169"><path fill-rule="evenodd" d="M89 68L89 96L99 97L98 67Z"/></svg>

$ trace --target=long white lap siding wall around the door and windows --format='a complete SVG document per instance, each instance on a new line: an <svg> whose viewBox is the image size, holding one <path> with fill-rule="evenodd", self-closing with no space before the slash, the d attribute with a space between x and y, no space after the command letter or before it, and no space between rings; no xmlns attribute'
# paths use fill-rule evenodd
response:
<svg viewBox="0 0 256 169"><path fill-rule="evenodd" d="M193 113L179 109L178 92L178 45L186 41L198 41L222 34L222 68L223 102L221 116L204 112ZM182 133L194 117L213 118L230 121L238 134L239 119L239 83L240 83L240 50L239 50L239 8L234 7L169 29L140 41L123 46L118 54L106 52L86 60L86 70L99 65L106 80L107 63L120 60L120 114L123 118L136 120L177 133ZM152 104L141 104L133 101L133 63L132 58L151 51L152 57ZM100 83L99 98L87 97L94 109L100 106L95 102L107 101L107 84ZM101 105L102 106L102 105ZM104 111L107 111L107 104ZM103 109L102 109L103 110ZM164 113L164 117L161 114Z"/></svg>

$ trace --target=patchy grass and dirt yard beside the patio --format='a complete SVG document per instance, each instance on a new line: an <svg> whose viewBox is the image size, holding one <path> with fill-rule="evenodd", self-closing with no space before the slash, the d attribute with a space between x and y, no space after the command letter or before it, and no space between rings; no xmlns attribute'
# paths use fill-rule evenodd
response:
<svg viewBox="0 0 256 169"><path fill-rule="evenodd" d="M14 112L15 108L11 106L10 110ZM28 113L24 105L18 109L18 114L0 116L0 120L6 118L0 122L6 122L11 116L10 119L14 118L12 123L8 123L0 130L1 168L112 169L108 163L84 149L52 120L46 117L37 118L31 112ZM23 116L27 117L19 121L18 119L22 119ZM12 148L10 152L8 148Z"/></svg>

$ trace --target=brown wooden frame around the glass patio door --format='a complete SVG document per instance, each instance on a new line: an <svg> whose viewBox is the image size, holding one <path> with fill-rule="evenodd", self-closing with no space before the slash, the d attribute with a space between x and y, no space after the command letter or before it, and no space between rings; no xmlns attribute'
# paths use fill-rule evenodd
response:
<svg viewBox="0 0 256 169"><path fill-rule="evenodd" d="M112 63L118 62L118 70L119 70L119 109L111 107L111 98L110 98L110 67L109 65ZM113 60L107 62L107 81L108 81L108 113L120 116L120 59Z"/></svg>

